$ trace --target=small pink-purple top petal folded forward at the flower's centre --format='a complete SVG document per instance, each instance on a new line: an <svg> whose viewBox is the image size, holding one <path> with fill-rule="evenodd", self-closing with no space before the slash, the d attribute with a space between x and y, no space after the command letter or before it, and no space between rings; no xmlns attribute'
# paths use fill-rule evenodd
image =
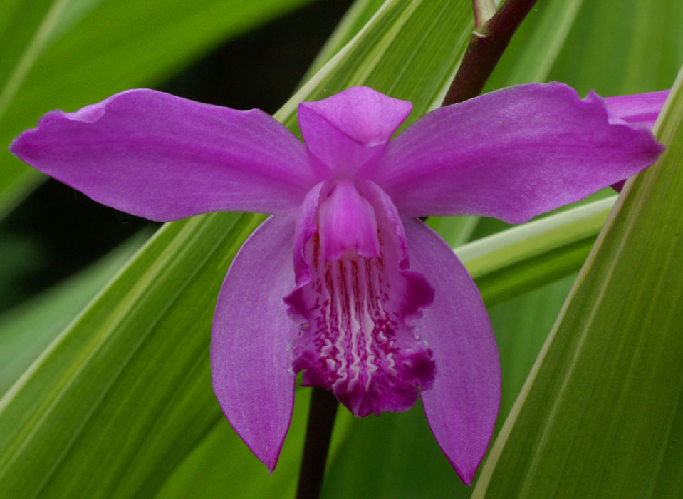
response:
<svg viewBox="0 0 683 499"><path fill-rule="evenodd" d="M326 168L334 178L350 178L385 150L411 110L408 101L358 86L301 103L298 120L309 153L323 165L318 168Z"/></svg>

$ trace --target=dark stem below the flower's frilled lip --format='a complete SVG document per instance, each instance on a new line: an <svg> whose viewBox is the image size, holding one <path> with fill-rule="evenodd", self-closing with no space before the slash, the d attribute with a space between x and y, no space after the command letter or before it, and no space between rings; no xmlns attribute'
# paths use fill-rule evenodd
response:
<svg viewBox="0 0 683 499"><path fill-rule="evenodd" d="M332 392L318 386L313 387L311 407L308 409L306 442L303 444L303 458L296 490L297 499L320 497L320 485L323 484L325 461L338 405L337 398Z"/></svg>

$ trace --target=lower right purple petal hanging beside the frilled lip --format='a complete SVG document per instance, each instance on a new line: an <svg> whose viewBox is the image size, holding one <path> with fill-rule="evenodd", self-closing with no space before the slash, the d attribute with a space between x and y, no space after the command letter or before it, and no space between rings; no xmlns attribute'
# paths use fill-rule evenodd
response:
<svg viewBox="0 0 683 499"><path fill-rule="evenodd" d="M411 267L434 287L417 332L434 352L437 376L422 393L434 438L469 485L486 453L501 396L493 330L481 295L452 249L427 225L404 219Z"/></svg>

